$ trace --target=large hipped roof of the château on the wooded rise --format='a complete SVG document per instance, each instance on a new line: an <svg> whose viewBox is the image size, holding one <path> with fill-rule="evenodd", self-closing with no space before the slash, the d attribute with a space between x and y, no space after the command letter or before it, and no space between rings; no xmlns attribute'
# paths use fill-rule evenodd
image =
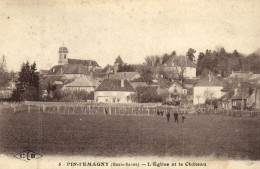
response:
<svg viewBox="0 0 260 169"><path fill-rule="evenodd" d="M196 64L193 63L187 56L172 56L164 64L164 66L180 66L180 67L194 67Z"/></svg>

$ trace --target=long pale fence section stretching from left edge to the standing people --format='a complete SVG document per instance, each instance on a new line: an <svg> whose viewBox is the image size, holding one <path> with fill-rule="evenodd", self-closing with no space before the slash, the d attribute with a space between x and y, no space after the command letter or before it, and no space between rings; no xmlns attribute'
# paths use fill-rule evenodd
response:
<svg viewBox="0 0 260 169"><path fill-rule="evenodd" d="M160 116L174 112L183 113L177 107L152 104L89 104L89 103L48 103L25 102L20 104L0 105L0 112L8 113L48 113L48 114L108 114L131 116Z"/></svg>

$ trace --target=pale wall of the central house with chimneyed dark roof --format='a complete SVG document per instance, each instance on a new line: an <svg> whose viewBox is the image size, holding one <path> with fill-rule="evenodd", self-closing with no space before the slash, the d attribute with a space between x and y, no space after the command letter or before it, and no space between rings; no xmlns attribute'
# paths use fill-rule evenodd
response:
<svg viewBox="0 0 260 169"><path fill-rule="evenodd" d="M115 103L118 103L117 99L119 99L119 103L131 103L130 100L127 102L127 97L130 97L130 95L134 93L135 92L95 91L94 101L98 103L114 103L113 98L115 98Z"/></svg>

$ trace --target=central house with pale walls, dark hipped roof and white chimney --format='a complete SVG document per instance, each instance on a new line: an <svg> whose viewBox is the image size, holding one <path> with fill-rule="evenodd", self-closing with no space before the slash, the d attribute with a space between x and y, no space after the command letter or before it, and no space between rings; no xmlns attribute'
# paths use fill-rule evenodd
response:
<svg viewBox="0 0 260 169"><path fill-rule="evenodd" d="M94 101L103 103L132 103L135 88L126 79L104 79L94 92Z"/></svg>

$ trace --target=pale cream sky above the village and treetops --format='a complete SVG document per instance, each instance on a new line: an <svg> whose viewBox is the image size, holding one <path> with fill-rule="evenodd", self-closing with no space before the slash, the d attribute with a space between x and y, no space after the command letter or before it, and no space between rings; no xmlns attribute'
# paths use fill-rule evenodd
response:
<svg viewBox="0 0 260 169"><path fill-rule="evenodd" d="M1 0L0 56L18 71L27 60L57 65L63 44L69 58L103 67L189 48L249 54L260 48L259 9L259 0Z"/></svg>

